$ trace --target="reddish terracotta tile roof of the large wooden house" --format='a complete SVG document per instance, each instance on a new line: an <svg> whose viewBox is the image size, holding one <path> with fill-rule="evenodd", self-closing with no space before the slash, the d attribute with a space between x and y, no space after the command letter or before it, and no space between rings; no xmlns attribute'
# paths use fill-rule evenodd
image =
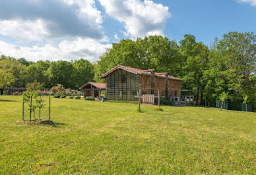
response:
<svg viewBox="0 0 256 175"><path fill-rule="evenodd" d="M117 70L117 69L122 69L122 70L127 70L128 72L132 72L134 74L144 74L144 75L151 75L152 72L154 72L154 69L148 69L148 70L142 70L139 68L132 68L129 66L123 66L123 65L117 65L114 68L112 68L111 70L108 70L108 72L106 72L105 74L103 74L102 76L100 76L100 78L105 78L106 76L108 76L108 74L112 73L113 71ZM172 80L180 80L179 78L176 78L174 76L169 76L167 72L154 72L155 76L159 76L162 78L170 78Z"/></svg>

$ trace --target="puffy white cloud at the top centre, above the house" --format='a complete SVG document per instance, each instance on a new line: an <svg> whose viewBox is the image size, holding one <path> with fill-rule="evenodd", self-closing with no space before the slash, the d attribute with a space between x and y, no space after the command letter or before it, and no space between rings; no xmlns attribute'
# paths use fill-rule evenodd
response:
<svg viewBox="0 0 256 175"><path fill-rule="evenodd" d="M151 34L164 35L166 19L171 17L169 8L153 1L99 0L112 18L123 22L127 35L143 37Z"/></svg>

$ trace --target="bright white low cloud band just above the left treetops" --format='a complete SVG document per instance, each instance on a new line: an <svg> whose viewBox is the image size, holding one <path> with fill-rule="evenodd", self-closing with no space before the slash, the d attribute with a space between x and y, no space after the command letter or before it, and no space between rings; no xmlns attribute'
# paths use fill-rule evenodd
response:
<svg viewBox="0 0 256 175"><path fill-rule="evenodd" d="M80 58L96 61L106 51L106 48L110 47L112 47L110 44L102 44L95 39L81 37L73 41L63 40L57 46L48 43L43 47L38 45L24 47L0 41L0 55L10 55L15 58L24 57L29 61L56 61Z"/></svg>

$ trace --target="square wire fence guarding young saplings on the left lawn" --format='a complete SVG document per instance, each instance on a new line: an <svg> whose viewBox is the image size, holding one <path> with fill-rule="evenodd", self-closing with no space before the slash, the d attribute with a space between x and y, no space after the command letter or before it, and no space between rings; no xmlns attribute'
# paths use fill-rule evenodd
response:
<svg viewBox="0 0 256 175"><path fill-rule="evenodd" d="M51 120L51 96L39 95L37 98L22 99L22 121Z"/></svg>

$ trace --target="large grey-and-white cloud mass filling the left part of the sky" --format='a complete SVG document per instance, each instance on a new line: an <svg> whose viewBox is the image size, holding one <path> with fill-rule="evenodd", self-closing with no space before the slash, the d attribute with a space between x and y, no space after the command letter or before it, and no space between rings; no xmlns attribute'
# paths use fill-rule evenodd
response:
<svg viewBox="0 0 256 175"><path fill-rule="evenodd" d="M15 6L13 5L15 4ZM30 61L98 59L111 47L94 0L9 0L0 6L0 55Z"/></svg>

